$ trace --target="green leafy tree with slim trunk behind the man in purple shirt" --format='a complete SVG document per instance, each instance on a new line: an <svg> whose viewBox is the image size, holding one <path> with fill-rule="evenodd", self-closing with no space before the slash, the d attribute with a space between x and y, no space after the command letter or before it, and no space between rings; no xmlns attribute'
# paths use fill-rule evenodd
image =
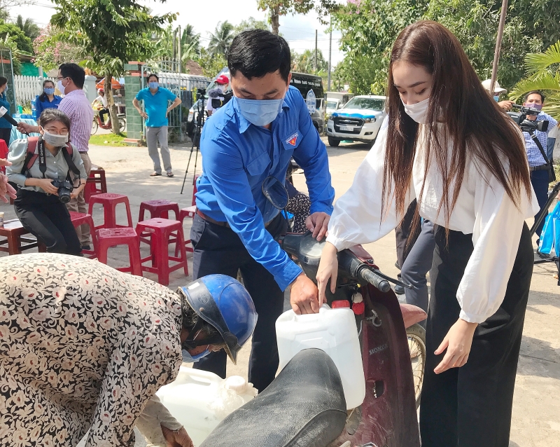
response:
<svg viewBox="0 0 560 447"><path fill-rule="evenodd" d="M53 1L57 13L52 16L51 24L59 33L45 42L65 41L80 47L88 55L83 64L104 75L113 133L117 133L111 78L123 73L128 60L145 59L153 50L153 42L147 36L158 32L165 22L173 22L176 14L152 15L136 0Z"/></svg>

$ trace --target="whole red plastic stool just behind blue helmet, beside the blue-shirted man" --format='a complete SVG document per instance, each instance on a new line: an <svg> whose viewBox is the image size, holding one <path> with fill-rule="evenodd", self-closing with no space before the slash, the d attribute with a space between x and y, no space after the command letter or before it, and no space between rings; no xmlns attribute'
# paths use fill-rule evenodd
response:
<svg viewBox="0 0 560 447"><path fill-rule="evenodd" d="M169 273L183 268L188 276L187 253L185 249L185 238L183 238L183 226L179 221L162 219L148 219L141 221L136 226L138 234L150 235L151 255L140 260L142 264L152 261L151 266L141 266L145 272L157 273L158 282L164 286L169 284ZM179 245L180 256L169 256L169 242ZM169 266L169 261L174 261L174 266Z"/></svg>

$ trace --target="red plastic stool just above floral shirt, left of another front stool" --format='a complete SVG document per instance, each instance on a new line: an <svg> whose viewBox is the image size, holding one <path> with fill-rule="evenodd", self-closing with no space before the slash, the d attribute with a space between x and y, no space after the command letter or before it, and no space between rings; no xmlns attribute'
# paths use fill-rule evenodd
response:
<svg viewBox="0 0 560 447"><path fill-rule="evenodd" d="M97 259L104 264L107 263L107 252L109 247L117 245L128 245L128 257L130 267L117 268L120 272L130 272L132 275L142 276L142 264L140 261L140 242L134 228L100 228L97 230Z"/></svg>

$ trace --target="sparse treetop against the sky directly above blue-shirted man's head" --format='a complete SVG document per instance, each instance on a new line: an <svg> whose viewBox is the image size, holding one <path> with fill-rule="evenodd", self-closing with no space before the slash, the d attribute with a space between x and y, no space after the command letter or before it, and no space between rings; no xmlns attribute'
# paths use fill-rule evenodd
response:
<svg viewBox="0 0 560 447"><path fill-rule="evenodd" d="M340 5L336 0L257 0L257 6L261 11L269 11L272 32L278 34L281 15L307 14L315 10L319 20L326 25L328 14Z"/></svg>

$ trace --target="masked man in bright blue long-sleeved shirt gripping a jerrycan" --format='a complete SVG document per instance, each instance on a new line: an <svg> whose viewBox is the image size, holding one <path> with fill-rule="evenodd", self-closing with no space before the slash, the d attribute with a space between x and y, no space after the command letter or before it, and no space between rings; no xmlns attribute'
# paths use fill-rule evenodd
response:
<svg viewBox="0 0 560 447"><path fill-rule="evenodd" d="M258 313L248 379L262 391L274 380L278 350L274 324L283 292L297 313L318 310L317 289L274 237L286 222L262 194L262 183L284 183L293 156L303 168L311 199L306 226L321 240L332 212L325 144L300 92L290 88L290 49L279 36L254 29L232 42L228 67L234 97L207 120L202 132L202 176L190 240L193 276L241 270ZM215 352L197 368L225 377L225 355Z"/></svg>

